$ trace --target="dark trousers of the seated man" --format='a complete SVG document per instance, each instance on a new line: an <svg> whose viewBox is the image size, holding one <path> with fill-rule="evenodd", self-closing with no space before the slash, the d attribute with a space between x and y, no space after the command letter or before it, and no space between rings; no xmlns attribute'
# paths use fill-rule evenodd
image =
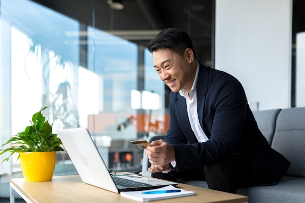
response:
<svg viewBox="0 0 305 203"><path fill-rule="evenodd" d="M237 188L256 185L253 168L244 156L232 156L202 168L177 173L152 173L152 177L176 182L177 179L207 181L210 189L236 194Z"/></svg>

